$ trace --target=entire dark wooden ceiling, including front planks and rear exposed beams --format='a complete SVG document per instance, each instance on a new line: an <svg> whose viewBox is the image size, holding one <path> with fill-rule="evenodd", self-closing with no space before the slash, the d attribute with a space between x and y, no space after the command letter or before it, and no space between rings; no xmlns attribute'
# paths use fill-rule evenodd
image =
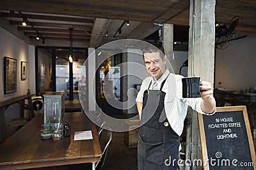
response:
<svg viewBox="0 0 256 170"><path fill-rule="evenodd" d="M6 21L11 26L15 26L31 40L35 39L39 32L45 42L68 42L69 29L73 28L74 42L97 47L107 33L110 37L109 41L118 39L113 35L115 31L109 35L111 27L120 27L121 21L115 22L115 20L122 20L122 23L129 20L131 26L134 22L132 27L134 30L142 22L186 25L187 29L189 25L188 0L0 0L0 4L1 22ZM15 11L15 13L10 13L10 11ZM237 27L237 30L256 32L256 1L216 0L216 20L220 24L227 24L236 15L243 17L243 24ZM30 24L26 27L20 25L24 16ZM184 32L182 33L181 28L176 29L174 36L177 34L187 36ZM186 32L188 32L187 29ZM131 31L122 32L119 39L126 38ZM94 41L98 42L92 43ZM30 43L36 44L34 40Z"/></svg>

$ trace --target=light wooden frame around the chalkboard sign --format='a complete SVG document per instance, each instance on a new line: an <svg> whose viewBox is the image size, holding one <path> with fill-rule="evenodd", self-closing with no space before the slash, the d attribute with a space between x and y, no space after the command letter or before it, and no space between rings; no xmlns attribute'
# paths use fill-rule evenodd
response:
<svg viewBox="0 0 256 170"><path fill-rule="evenodd" d="M250 145L250 152L252 155L253 169L256 169L256 155L255 155L255 149L253 146L252 132L250 129L250 122L248 119L246 106L227 106L227 107L217 107L216 108L216 112L228 112L228 111L243 111L243 117L244 117L246 132L247 132L247 136L248 136L248 142ZM207 154L204 119L203 119L203 115L201 113L198 113L197 115L198 115L200 141L201 141L201 147L202 147L202 159L203 159L203 164L207 165L207 166L204 166L204 169L209 170L210 169L209 164L207 164L207 161L209 160L209 158L208 158L208 154Z"/></svg>

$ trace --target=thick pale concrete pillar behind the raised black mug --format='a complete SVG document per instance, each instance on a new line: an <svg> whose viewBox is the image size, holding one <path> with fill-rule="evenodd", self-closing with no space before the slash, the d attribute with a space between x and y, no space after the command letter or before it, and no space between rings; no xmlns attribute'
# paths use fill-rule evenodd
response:
<svg viewBox="0 0 256 170"><path fill-rule="evenodd" d="M215 0L191 0L189 12L188 76L200 76L201 80L211 82L212 87L214 82L215 4ZM191 152L189 152L191 154L187 153L186 159L193 162L195 159L202 159L196 112L192 111L188 118L191 120ZM202 169L202 167L193 167L193 169Z"/></svg>

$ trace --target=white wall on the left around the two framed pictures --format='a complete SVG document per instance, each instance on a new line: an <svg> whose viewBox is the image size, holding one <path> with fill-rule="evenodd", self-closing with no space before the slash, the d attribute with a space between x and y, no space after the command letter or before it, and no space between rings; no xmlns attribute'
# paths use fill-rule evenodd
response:
<svg viewBox="0 0 256 170"><path fill-rule="evenodd" d="M16 38L9 32L0 28L0 102L5 101L7 99L12 99L13 97L17 97L27 93L29 87L29 76L27 76L26 80L21 80L20 78L20 62L27 62L27 71L29 73L31 67L35 67L35 65L29 65L29 45L24 43L24 41ZM10 94L4 94L4 78L3 78L3 62L4 57L10 57L13 59L17 59L17 92L13 92Z"/></svg>

